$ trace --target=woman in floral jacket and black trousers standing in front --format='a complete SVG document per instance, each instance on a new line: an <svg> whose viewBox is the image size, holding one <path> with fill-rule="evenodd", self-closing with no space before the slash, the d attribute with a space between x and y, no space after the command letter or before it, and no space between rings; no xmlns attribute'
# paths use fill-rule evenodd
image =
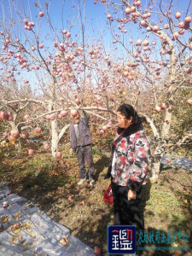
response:
<svg viewBox="0 0 192 256"><path fill-rule="evenodd" d="M117 120L106 178L112 179L115 224L136 225L138 241L144 228L140 202L148 172L149 142L142 125L145 118L140 118L131 105L123 104L117 110Z"/></svg>

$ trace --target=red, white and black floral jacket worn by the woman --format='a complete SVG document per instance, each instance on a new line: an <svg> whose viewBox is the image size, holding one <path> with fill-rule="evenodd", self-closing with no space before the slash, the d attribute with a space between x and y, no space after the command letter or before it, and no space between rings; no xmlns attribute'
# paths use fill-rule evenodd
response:
<svg viewBox="0 0 192 256"><path fill-rule="evenodd" d="M112 143L106 177L112 177L113 183L117 185L138 191L147 179L148 149L149 142L143 125L130 125L127 129L118 128L118 136Z"/></svg>

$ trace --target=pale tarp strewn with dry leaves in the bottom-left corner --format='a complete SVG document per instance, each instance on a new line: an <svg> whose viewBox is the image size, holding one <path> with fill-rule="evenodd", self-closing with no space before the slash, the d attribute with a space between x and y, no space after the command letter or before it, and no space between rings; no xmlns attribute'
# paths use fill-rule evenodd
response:
<svg viewBox="0 0 192 256"><path fill-rule="evenodd" d="M94 256L93 249L70 236L26 199L0 186L0 256Z"/></svg>

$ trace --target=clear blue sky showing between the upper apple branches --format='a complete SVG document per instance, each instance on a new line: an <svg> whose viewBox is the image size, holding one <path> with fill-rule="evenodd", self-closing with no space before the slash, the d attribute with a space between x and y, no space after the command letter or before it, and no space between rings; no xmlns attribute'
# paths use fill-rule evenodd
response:
<svg viewBox="0 0 192 256"><path fill-rule="evenodd" d="M13 1L13 3L11 3ZM34 27L35 31L38 32L40 35L40 41L41 43L44 43L45 46L48 46L50 49L53 48L52 42L50 44L49 38L52 38L55 40L56 38L53 38L53 36L49 33L49 26L47 24L47 20L45 17L40 18L38 16L39 11L45 12L45 1L39 0L0 0L1 6L3 6L4 9L4 15L9 16L11 13L11 9L15 6L18 12L18 15L20 16L20 20L23 20L25 18L24 15L20 15L20 2L23 3L23 9L26 14L27 19L30 21L35 21L36 26ZM38 7L35 6L35 3L40 3ZM113 1L115 3L120 3L119 0ZM133 2L133 1L131 1ZM143 6L145 7L145 4L148 2L146 0L141 0ZM170 0L164 0L165 3L169 3ZM49 17L50 20L52 20L52 25L55 29L55 31L60 32L63 29L67 29L67 31L70 28L70 31L72 33L72 40L76 40L78 38L79 44L82 43L82 34L81 34L81 24L79 22L79 6L81 9L81 15L82 19L85 19L84 22L84 34L85 34L85 44L93 44L97 41L95 41L95 38L101 38L103 40L103 43L106 48L106 52L112 51L114 48L114 44L112 44L113 38L111 37L111 32L109 30L108 26L108 19L107 14L110 13L113 15L112 9L108 8L107 5L104 4L94 4L93 0L51 0L47 1L49 4ZM156 6L159 6L158 3L160 3L160 0L157 0ZM173 5L173 12L176 13L177 10L185 11L188 8L189 0L172 0ZM85 9L84 9L85 6ZM30 8L29 8L30 7ZM146 6L147 8L147 6ZM191 15L192 12L192 6L189 8L189 15ZM122 9L122 13L125 14L125 8ZM85 14L85 15L84 15ZM18 19L14 12L12 12L12 15L14 16L16 22L18 22ZM153 15L153 14L152 14ZM183 15L183 13L182 13ZM0 9L0 17L3 19L3 11ZM119 16L113 15L113 18L118 18ZM183 18L183 17L182 17ZM37 20L38 19L38 20ZM154 20L155 20L154 15ZM119 32L117 29L117 22L113 21L113 25L115 26L115 32ZM22 23L22 26L23 23ZM129 43L129 40L133 38L134 41L137 40L137 38L142 37L142 30L141 32L138 32L137 26L133 26L132 23L126 24L126 34L121 34L121 37L124 37L125 44ZM11 27L10 27L11 29ZM1 30L1 27L0 27ZM15 37L22 38L22 33L26 32L15 31ZM29 35L32 35L32 32L27 32ZM76 37L77 36L77 37ZM152 36L154 35L152 34ZM52 40L52 41L53 41ZM120 45L118 45L118 49L122 49ZM117 51L116 51L117 52ZM118 54L117 54L118 55Z"/></svg>

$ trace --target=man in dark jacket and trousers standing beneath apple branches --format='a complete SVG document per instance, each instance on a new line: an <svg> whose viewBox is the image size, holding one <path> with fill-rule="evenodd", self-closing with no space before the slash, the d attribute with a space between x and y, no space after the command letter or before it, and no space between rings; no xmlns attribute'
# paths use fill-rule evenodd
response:
<svg viewBox="0 0 192 256"><path fill-rule="evenodd" d="M85 115L85 114L84 114ZM86 160L89 172L88 177L90 185L95 184L94 180L94 166L93 166L93 156L92 156L92 137L90 135L90 128L88 125L88 118L85 115L85 118L81 118L79 112L76 115L71 115L73 122L69 126L70 134L70 143L71 149L70 154L73 154L73 151L76 153L78 162L79 162L79 183L78 185L83 184L87 180L87 173L84 166L84 159Z"/></svg>

